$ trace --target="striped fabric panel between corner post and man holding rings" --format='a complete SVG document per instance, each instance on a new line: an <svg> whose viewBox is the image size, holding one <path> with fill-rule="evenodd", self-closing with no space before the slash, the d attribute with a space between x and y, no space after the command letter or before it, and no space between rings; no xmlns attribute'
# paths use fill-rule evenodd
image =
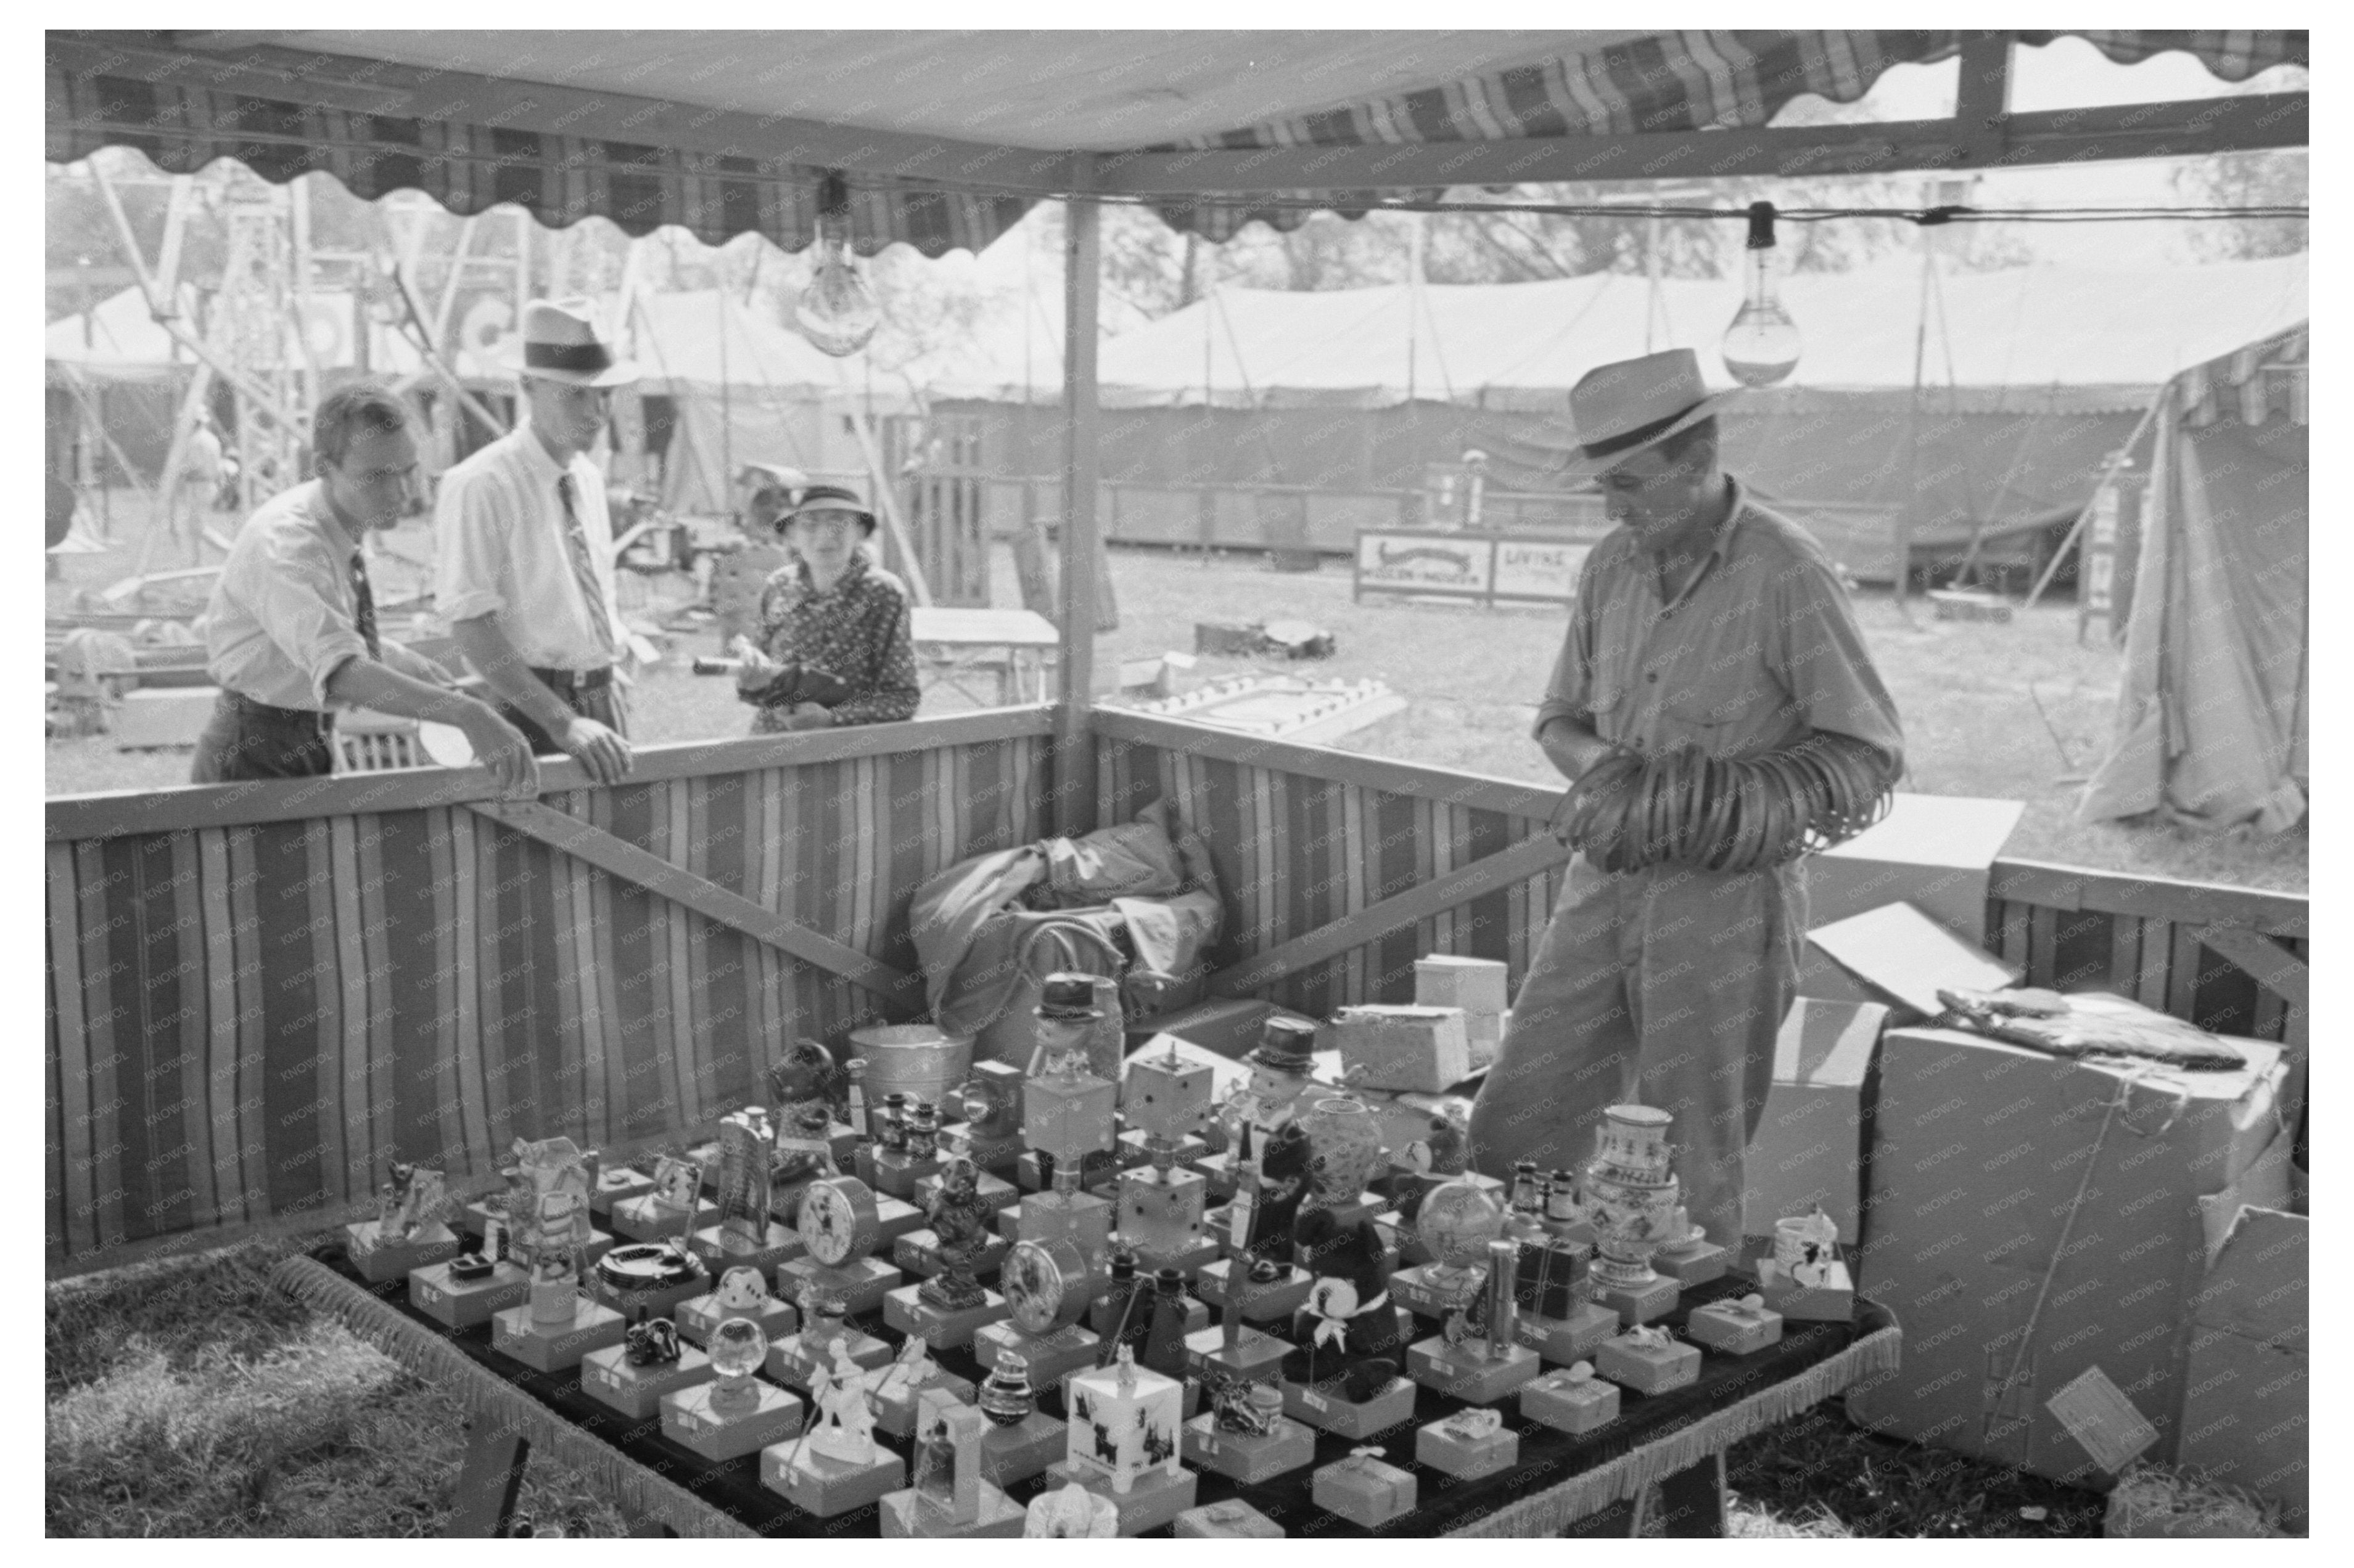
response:
<svg viewBox="0 0 2354 1568"><path fill-rule="evenodd" d="M1226 906L1226 928L1212 954L1219 968L1547 826L1542 817L1099 737L1099 819L1130 819L1156 798L1165 798L1177 824L1210 850ZM1351 1003L1405 1003L1415 994L1415 958L1424 954L1502 958L1511 965L1511 984L1518 984L1561 895L1561 876L1532 876L1394 930L1285 975L1262 996L1314 1017Z"/></svg>

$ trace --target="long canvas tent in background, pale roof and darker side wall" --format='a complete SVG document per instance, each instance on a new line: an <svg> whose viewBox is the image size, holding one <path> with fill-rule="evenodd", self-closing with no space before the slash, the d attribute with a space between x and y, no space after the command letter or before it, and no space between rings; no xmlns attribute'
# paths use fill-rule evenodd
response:
<svg viewBox="0 0 2354 1568"><path fill-rule="evenodd" d="M1707 379L1733 386L1716 344L1737 290L1664 280L1667 332L1648 346L1695 348ZM1806 353L1789 384L1723 414L1728 464L1867 582L1893 582L1907 504L1916 567L1949 572L1973 549L2022 579L2041 567L2170 374L2305 318L2307 259L1940 273L1930 299L1916 403L1919 261L1791 278ZM1558 490L1568 388L1643 353L1650 315L1634 273L1431 285L1419 299L1405 285L1219 290L1104 344L1102 400L1121 410L1104 424L1104 473L1419 490L1427 464L1476 447L1499 490ZM982 424L984 466L1048 473L1052 433L1026 443L1003 403L956 410ZM1113 537L1139 518L1123 509ZM1316 544L1344 549L1346 534Z"/></svg>

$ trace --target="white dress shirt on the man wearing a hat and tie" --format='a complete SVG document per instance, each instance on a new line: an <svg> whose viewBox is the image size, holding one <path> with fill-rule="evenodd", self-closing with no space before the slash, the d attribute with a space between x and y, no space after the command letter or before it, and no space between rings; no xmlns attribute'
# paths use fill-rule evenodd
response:
<svg viewBox="0 0 2354 1568"><path fill-rule="evenodd" d="M586 454L570 469L518 426L443 473L433 504L435 607L450 622L494 617L506 640L534 669L591 671L612 664L617 647L598 633L572 572L565 504L556 480L572 476L574 506L588 534L588 563L605 591L605 617L621 633L612 591L612 520L605 516L605 476Z"/></svg>

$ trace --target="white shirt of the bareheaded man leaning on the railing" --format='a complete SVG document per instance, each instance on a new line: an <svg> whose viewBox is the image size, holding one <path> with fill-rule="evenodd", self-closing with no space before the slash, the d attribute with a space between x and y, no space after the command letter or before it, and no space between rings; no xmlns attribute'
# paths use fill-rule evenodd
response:
<svg viewBox="0 0 2354 1568"><path fill-rule="evenodd" d="M205 669L214 685L275 709L325 713L327 676L367 655L351 582L358 544L304 480L264 501L221 563L205 605Z"/></svg>

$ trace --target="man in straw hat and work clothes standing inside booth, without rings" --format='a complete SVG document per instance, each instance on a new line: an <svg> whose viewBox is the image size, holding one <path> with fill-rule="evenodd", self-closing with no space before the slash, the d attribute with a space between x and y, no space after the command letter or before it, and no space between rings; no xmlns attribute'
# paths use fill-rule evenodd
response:
<svg viewBox="0 0 2354 1568"><path fill-rule="evenodd" d="M1758 506L1716 454L1690 348L1622 360L1570 391L1572 471L1617 530L1587 556L1537 744L1577 779L1620 749L1751 758L1808 737L1862 746L1893 779L1904 735L1815 539ZM1575 1170L1603 1107L1676 1116L1676 1168L1709 1241L1742 1238L1742 1149L1773 1085L1806 949L1801 862L1756 871L1570 862L1471 1114L1481 1170Z"/></svg>

